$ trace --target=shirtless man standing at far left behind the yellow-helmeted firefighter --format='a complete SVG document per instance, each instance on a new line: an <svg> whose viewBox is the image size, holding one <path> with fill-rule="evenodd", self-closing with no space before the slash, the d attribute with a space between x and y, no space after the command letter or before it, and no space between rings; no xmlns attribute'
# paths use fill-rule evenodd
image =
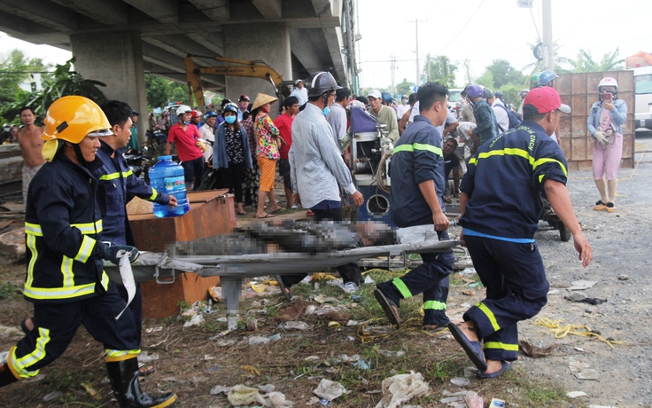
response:
<svg viewBox="0 0 652 408"><path fill-rule="evenodd" d="M20 109L20 122L24 126L18 131L18 143L23 155L23 202L25 203L27 203L27 187L45 162L41 153L43 150L43 139L41 138L43 128L35 126L35 119L36 116L31 107L25 106Z"/></svg>

